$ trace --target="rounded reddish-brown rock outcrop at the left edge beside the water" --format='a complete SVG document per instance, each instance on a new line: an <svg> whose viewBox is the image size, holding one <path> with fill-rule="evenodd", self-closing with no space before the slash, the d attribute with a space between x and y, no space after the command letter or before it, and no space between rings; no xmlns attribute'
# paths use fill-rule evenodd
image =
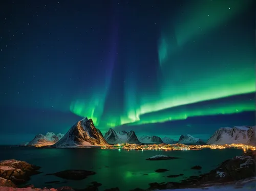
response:
<svg viewBox="0 0 256 191"><path fill-rule="evenodd" d="M11 180L14 184L22 184L30 179L30 176L39 174L39 166L19 160L0 161L0 177Z"/></svg>

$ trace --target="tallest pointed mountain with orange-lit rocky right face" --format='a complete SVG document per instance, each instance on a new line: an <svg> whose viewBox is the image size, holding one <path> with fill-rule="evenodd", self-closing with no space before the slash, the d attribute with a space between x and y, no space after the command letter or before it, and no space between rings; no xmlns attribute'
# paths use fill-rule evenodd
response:
<svg viewBox="0 0 256 191"><path fill-rule="evenodd" d="M83 118L52 145L54 148L79 148L108 145L101 132L95 128L92 119Z"/></svg>

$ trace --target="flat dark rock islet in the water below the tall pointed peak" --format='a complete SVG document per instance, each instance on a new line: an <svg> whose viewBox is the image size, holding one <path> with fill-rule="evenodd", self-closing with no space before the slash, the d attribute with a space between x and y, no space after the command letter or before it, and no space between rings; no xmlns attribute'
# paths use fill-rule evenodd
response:
<svg viewBox="0 0 256 191"><path fill-rule="evenodd" d="M63 179L67 180L82 180L84 178L87 178L90 175L95 175L96 173L93 171L86 171L86 170L66 170L66 171L60 171L53 174L47 174L47 175L54 175Z"/></svg>

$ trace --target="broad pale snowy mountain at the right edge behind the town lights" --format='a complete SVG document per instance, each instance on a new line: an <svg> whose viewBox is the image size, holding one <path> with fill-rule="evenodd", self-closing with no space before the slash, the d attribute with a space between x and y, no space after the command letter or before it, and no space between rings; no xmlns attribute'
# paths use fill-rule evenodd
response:
<svg viewBox="0 0 256 191"><path fill-rule="evenodd" d="M256 126L235 126L220 128L208 139L206 144L247 144L255 145Z"/></svg>

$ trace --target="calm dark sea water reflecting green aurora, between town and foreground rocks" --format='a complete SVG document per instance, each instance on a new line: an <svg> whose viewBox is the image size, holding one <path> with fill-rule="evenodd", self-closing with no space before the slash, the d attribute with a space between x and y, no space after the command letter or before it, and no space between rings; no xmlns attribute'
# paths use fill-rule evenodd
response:
<svg viewBox="0 0 256 191"><path fill-rule="evenodd" d="M0 160L17 159L41 166L39 175L31 177L30 184L35 187L64 185L74 188L84 188L90 182L97 181L102 185L99 190L118 186L121 190L136 187L147 188L151 182L180 181L183 177L199 175L215 168L222 161L239 156L242 150L222 149L201 151L127 151L100 149L40 149L26 147L0 147ZM174 160L148 161L154 155L169 155L181 157ZM201 165L201 173L190 170L194 165ZM109 166L106 168L105 166ZM46 184L48 181L63 179L45 176L63 170L91 170L97 174L84 180L70 181L64 184ZM168 172L155 173L157 169L167 169ZM148 175L144 175L148 174ZM167 178L168 175L184 174L177 178Z"/></svg>

